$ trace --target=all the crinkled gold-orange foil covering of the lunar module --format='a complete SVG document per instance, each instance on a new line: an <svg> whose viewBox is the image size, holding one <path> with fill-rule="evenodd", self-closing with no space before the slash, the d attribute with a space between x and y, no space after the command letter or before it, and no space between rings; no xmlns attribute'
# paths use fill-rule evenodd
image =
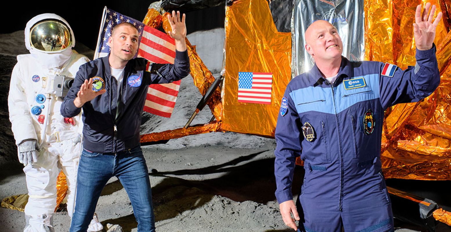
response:
<svg viewBox="0 0 451 232"><path fill-rule="evenodd" d="M425 3L426 0L365 0L365 59L389 62L402 69L414 65L414 12L416 5ZM451 15L449 2L432 3L444 16ZM165 20L158 15L148 13L146 20L151 25ZM450 24L451 19L443 17L437 27L440 86L421 102L398 104L385 113L381 160L387 178L451 180ZM163 27L167 31L167 26ZM290 33L276 31L267 2L259 0L236 0L227 6L225 28L225 81L222 94L217 90L208 103L216 121L189 130L143 135L142 142L221 130L274 136L280 99L291 79ZM195 46L189 45L188 50L194 83L204 94L213 81L212 75L198 58ZM273 74L271 104L237 101L241 71Z"/></svg>

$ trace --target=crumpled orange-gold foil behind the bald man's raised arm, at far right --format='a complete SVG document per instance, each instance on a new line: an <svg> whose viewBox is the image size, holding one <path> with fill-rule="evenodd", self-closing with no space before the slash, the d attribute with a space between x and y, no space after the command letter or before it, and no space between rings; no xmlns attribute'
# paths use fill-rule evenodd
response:
<svg viewBox="0 0 451 232"><path fill-rule="evenodd" d="M415 65L413 23L416 5L426 0L366 0L366 60L390 62L405 69ZM428 0L437 12L449 2ZM444 6L447 9L442 9ZM436 12L436 15L437 15ZM442 18L443 19L443 18ZM437 26L438 68L441 84L422 102L387 109L382 133L381 160L386 178L451 180L451 34L442 20Z"/></svg>

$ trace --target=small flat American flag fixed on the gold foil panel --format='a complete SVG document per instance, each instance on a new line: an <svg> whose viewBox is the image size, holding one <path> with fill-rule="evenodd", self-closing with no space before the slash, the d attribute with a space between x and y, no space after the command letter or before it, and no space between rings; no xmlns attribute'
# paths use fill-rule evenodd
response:
<svg viewBox="0 0 451 232"><path fill-rule="evenodd" d="M272 73L238 73L238 102L271 104Z"/></svg>

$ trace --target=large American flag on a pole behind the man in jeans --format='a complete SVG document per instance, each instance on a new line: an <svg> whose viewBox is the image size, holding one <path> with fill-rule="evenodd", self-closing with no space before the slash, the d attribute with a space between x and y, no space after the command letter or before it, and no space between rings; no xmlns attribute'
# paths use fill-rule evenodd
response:
<svg viewBox="0 0 451 232"><path fill-rule="evenodd" d="M138 29L139 45L135 57L143 57L149 60L147 68L151 67L151 63L174 64L175 41L172 37L106 7L103 11L94 59L108 56L110 52L108 39L111 36L113 27L119 23L132 23ZM158 116L170 117L174 110L179 87L180 81L169 84L149 85L144 111Z"/></svg>

